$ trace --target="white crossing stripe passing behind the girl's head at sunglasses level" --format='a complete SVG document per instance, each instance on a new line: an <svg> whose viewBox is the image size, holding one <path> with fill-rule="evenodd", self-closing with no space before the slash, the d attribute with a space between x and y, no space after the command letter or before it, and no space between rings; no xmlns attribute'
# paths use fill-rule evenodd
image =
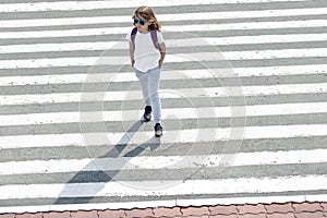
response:
<svg viewBox="0 0 327 218"><path fill-rule="evenodd" d="M254 19L298 15L320 15L326 14L327 8L316 9L283 9L283 10L261 10L261 11L227 11L205 13L179 13L179 14L156 14L160 22L167 21L201 21L201 20L226 20L226 19ZM69 17L69 19L37 19L37 20L9 20L0 21L1 28L36 27L36 26L64 26L85 24L108 24L132 22L130 16L93 16L93 17Z"/></svg>

